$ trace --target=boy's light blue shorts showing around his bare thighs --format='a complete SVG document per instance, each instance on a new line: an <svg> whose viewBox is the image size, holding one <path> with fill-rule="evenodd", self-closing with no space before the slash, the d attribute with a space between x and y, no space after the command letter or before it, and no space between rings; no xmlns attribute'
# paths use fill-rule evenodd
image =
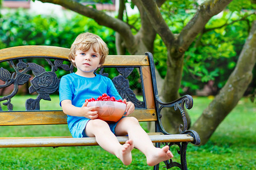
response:
<svg viewBox="0 0 256 170"><path fill-rule="evenodd" d="M122 117L123 118L123 117ZM121 119L122 119L121 118ZM120 119L120 120L121 120ZM119 121L120 121L119 120ZM85 134L85 128L87 123L90 121L90 119L88 118L83 118L82 120L80 120L79 122L76 123L75 126L73 126L73 128L70 130L72 137L73 138L86 138L88 137ZM109 128L112 131L113 134L115 134L115 126L117 126L118 122L113 122L113 123L108 123L109 124Z"/></svg>

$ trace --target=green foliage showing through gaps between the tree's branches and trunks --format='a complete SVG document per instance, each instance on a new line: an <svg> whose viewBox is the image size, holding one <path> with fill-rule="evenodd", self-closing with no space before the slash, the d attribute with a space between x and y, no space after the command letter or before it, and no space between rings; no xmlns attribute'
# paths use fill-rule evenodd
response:
<svg viewBox="0 0 256 170"><path fill-rule="evenodd" d="M192 9L198 6L197 1L167 1L162 5L161 11L172 32L179 33L195 14L195 10ZM203 89L209 81L214 82L213 95L224 86L236 66L251 22L255 20L255 15L249 16L253 7L255 4L249 1L233 1L228 6L230 11L210 19L204 32L185 52L181 95L195 94L196 90ZM246 15L248 17L245 17ZM167 49L159 36L156 36L154 56L156 68L164 78L167 69ZM250 86L253 88L254 85Z"/></svg>

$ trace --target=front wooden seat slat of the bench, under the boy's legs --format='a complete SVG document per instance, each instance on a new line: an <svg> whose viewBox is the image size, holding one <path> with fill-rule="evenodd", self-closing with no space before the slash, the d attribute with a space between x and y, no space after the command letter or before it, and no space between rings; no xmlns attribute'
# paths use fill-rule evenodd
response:
<svg viewBox="0 0 256 170"><path fill-rule="evenodd" d="M150 133L152 142L192 142L193 137L187 134L160 135ZM123 144L128 137L117 137ZM96 146L95 138L72 137L27 137L27 138L0 138L0 147L62 147L62 146Z"/></svg>

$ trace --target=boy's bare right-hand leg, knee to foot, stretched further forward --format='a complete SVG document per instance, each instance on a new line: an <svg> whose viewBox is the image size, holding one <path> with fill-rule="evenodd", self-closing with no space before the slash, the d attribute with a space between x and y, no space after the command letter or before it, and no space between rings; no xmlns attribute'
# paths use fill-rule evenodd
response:
<svg viewBox="0 0 256 170"><path fill-rule="evenodd" d="M147 133L141 128L139 122L134 117L122 118L115 127L116 135L129 135L129 139L133 141L134 147L142 151L147 158L147 164L156 165L164 160L173 157L168 146L156 148L148 137Z"/></svg>

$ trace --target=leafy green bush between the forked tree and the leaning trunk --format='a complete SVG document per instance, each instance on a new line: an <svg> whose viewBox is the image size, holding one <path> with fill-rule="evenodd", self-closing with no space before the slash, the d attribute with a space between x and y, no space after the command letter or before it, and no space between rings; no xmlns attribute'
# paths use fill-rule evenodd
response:
<svg viewBox="0 0 256 170"><path fill-rule="evenodd" d="M207 28L225 24L229 15L230 12L224 12L221 18L213 18L209 21ZM234 15L230 20L237 18L238 16ZM249 17L248 20L249 22L241 20L199 35L197 41L185 53L183 86L188 82L197 84L198 86L190 86L190 90L193 91L203 88L209 80L214 81L215 92L224 86L236 66L254 17Z"/></svg>

